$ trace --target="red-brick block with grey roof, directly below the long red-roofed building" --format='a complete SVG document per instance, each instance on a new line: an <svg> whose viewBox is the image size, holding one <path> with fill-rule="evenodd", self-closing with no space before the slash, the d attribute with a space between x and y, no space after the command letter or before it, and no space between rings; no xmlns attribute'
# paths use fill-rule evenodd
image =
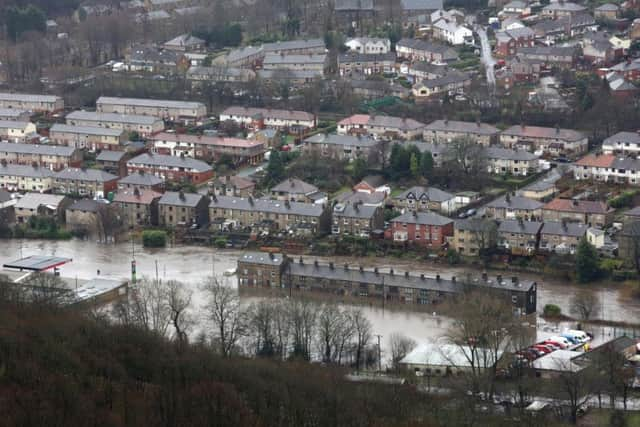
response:
<svg viewBox="0 0 640 427"><path fill-rule="evenodd" d="M213 178L213 168L207 163L185 156L143 153L127 162L129 175L143 172L164 181L201 184Z"/></svg>

